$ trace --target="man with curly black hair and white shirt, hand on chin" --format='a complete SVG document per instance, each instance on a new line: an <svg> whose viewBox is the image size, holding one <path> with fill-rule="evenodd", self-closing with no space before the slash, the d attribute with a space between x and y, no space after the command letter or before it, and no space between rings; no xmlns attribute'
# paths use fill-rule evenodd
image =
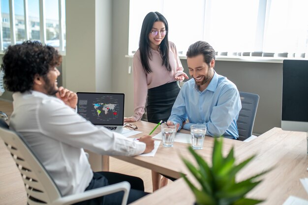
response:
<svg viewBox="0 0 308 205"><path fill-rule="evenodd" d="M153 150L151 136L133 142L79 116L77 94L58 88L56 66L62 63L62 56L55 48L26 41L9 46L2 60L4 84L14 92L10 128L25 137L63 196L120 181L131 184L128 203L146 195L138 177L93 173L84 148L102 155L133 156ZM115 193L80 205L118 205L122 196L122 192Z"/></svg>

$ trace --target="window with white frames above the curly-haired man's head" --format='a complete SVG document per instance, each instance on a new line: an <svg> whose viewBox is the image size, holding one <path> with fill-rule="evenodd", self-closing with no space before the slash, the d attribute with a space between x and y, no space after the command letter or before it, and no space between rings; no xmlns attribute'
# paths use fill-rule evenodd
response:
<svg viewBox="0 0 308 205"><path fill-rule="evenodd" d="M65 0L1 0L1 18L2 52L8 45L38 40L64 54Z"/></svg>

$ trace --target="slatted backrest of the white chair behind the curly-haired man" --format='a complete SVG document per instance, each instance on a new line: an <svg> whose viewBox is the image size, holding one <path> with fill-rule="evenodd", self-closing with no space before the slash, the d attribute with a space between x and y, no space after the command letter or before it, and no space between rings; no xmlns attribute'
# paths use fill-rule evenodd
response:
<svg viewBox="0 0 308 205"><path fill-rule="evenodd" d="M0 137L11 153L23 178L29 205L52 204L62 197L58 187L38 161L23 136L0 119Z"/></svg>

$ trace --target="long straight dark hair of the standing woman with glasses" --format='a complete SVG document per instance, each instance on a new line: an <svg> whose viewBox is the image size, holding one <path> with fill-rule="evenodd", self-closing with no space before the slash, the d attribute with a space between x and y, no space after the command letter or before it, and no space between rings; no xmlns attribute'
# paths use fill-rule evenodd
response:
<svg viewBox="0 0 308 205"><path fill-rule="evenodd" d="M153 28L154 22L161 21L165 24L166 35L159 45L159 52L162 58L162 65L165 65L167 70L171 71L171 66L169 63L169 41L168 41L168 22L166 18L159 12L150 12L146 15L143 20L140 39L139 39L139 51L141 64L146 73L151 73L152 70L149 66L149 59L152 58L149 33Z"/></svg>

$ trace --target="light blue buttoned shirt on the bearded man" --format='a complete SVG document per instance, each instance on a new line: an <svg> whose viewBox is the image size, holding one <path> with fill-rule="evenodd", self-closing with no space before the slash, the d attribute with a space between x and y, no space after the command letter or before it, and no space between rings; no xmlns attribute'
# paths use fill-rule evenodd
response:
<svg viewBox="0 0 308 205"><path fill-rule="evenodd" d="M187 81L173 105L168 120L179 123L180 128L190 130L193 124L204 124L206 135L237 139L236 120L242 108L237 87L216 72L208 87L200 91L194 79Z"/></svg>

